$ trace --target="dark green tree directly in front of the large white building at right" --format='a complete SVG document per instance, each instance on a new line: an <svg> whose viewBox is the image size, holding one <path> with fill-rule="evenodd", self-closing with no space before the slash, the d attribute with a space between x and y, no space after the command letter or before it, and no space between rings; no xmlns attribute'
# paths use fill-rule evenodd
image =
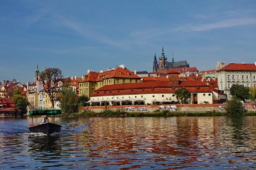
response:
<svg viewBox="0 0 256 170"><path fill-rule="evenodd" d="M249 88L244 87L243 85L240 84L233 84L230 88L230 94L233 97L240 98L240 100L244 101L248 100L250 95L249 95Z"/></svg>

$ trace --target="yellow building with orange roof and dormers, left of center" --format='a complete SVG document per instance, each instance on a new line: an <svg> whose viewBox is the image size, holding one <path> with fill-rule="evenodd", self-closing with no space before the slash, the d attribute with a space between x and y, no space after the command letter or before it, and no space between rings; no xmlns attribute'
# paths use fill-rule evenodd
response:
<svg viewBox="0 0 256 170"><path fill-rule="evenodd" d="M100 73L88 70L87 75L83 75L79 82L79 96L90 97L94 90L100 89L104 85L135 83L140 82L140 79L124 65L116 69L108 69L108 71L101 70Z"/></svg>

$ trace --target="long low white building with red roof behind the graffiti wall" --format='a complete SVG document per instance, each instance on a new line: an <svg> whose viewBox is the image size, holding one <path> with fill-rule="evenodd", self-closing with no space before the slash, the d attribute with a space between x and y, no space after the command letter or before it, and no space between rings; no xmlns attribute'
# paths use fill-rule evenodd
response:
<svg viewBox="0 0 256 170"><path fill-rule="evenodd" d="M177 103L175 91L180 88L185 88L191 93L187 103L212 103L213 97L209 85L200 80L179 81L178 74L169 74L168 81L105 85L93 92L88 103L91 105Z"/></svg>

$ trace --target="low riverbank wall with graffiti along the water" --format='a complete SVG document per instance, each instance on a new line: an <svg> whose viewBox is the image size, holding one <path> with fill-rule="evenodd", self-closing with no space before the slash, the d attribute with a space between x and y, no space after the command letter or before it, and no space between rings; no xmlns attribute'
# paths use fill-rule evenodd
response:
<svg viewBox="0 0 256 170"><path fill-rule="evenodd" d="M125 106L87 106L82 107L82 111L93 111L96 113L106 109L112 111L127 112L155 112L155 111L177 111L187 113L203 113L203 112L225 112L224 104L161 104L161 105L125 105ZM247 111L256 111L256 103L244 103Z"/></svg>

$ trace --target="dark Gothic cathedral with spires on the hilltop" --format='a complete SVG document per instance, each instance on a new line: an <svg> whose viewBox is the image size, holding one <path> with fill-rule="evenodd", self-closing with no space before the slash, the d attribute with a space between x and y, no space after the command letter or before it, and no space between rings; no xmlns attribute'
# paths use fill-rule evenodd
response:
<svg viewBox="0 0 256 170"><path fill-rule="evenodd" d="M162 47L162 54L159 57L158 62L155 56L154 63L153 63L153 72L158 72L160 70L168 70L171 68L181 68L181 67L189 67L189 64L187 64L186 60L174 62L173 56L172 56L172 61L168 62L167 58L164 56L163 47Z"/></svg>

